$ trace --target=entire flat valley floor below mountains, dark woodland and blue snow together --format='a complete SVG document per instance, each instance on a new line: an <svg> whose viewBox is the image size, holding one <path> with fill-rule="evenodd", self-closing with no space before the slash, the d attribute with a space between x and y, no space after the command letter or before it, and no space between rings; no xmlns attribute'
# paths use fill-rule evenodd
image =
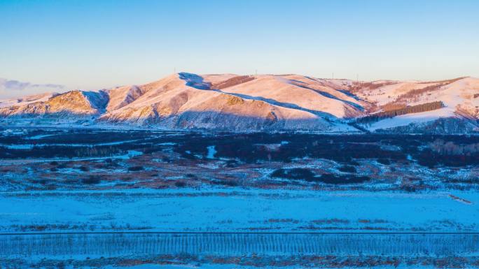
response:
<svg viewBox="0 0 479 269"><path fill-rule="evenodd" d="M478 145L473 136L0 130L0 266L477 268Z"/></svg>

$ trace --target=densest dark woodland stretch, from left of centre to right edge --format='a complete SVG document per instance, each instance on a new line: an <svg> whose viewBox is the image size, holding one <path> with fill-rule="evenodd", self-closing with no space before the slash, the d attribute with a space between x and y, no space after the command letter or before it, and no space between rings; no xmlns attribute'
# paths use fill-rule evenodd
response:
<svg viewBox="0 0 479 269"><path fill-rule="evenodd" d="M437 139L457 145L479 143L477 136L408 136L408 135L349 135L327 136L291 133L249 133L218 137L189 135L174 147L187 159L205 158L207 147L214 145L216 158L234 159L248 163L257 161L290 162L296 158L331 159L355 166L356 160L373 159L384 165L397 161L417 161L424 166L467 166L479 163L479 153L467 157L449 152L431 150ZM398 150L391 150L396 146ZM468 147L467 147L468 148ZM349 168L349 170L353 170Z"/></svg>

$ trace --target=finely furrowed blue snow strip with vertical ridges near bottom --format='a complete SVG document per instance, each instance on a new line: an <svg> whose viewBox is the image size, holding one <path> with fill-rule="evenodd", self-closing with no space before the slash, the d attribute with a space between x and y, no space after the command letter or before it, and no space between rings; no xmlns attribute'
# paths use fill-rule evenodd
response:
<svg viewBox="0 0 479 269"><path fill-rule="evenodd" d="M475 256L479 234L67 233L0 235L0 255L374 255Z"/></svg>

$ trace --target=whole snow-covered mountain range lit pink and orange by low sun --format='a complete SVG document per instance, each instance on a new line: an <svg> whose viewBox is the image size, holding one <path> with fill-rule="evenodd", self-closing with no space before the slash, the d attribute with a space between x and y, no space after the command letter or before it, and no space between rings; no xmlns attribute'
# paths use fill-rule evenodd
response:
<svg viewBox="0 0 479 269"><path fill-rule="evenodd" d="M178 73L146 85L0 100L4 124L81 120L229 131L478 130L479 79L355 82L304 75Z"/></svg>

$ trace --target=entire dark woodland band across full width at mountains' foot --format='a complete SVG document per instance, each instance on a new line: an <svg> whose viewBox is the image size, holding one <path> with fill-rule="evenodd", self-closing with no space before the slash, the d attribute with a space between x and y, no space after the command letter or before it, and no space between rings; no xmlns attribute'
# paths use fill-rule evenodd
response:
<svg viewBox="0 0 479 269"><path fill-rule="evenodd" d="M38 134L38 133L36 133ZM113 135L113 136L110 136ZM95 140L95 136L97 140ZM58 145L71 141L102 143L102 136L114 140L134 140L115 145ZM143 138L136 140L135 138ZM135 133L80 131L48 137L25 150L0 147L0 159L113 157L137 150L146 154L173 148L184 159L206 159L208 147L214 146L214 158L256 163L263 161L290 162L293 159L330 159L342 163L345 173L355 173L361 159L372 159L389 165L394 162L417 161L424 166L467 166L479 164L479 136L438 135L319 135L307 133ZM41 141L41 142L40 142ZM172 145L164 145L172 143ZM8 143L6 143L8 145ZM19 145L23 144L20 143ZM29 140L28 144L34 144ZM65 143L68 144L68 143ZM12 144L10 144L12 145ZM13 143L15 145L15 143ZM234 166L234 163L230 163Z"/></svg>

